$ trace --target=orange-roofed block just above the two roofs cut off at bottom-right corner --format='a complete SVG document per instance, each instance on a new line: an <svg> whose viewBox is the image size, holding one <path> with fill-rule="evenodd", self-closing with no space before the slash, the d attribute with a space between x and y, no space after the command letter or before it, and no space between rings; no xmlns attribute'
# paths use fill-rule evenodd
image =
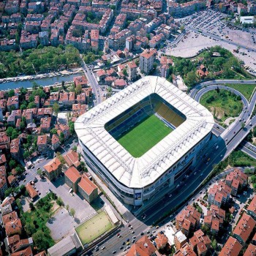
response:
<svg viewBox="0 0 256 256"><path fill-rule="evenodd" d="M248 214L243 214L235 229L233 230L233 236L238 239L241 244L245 244L249 236L252 234L256 222Z"/></svg>

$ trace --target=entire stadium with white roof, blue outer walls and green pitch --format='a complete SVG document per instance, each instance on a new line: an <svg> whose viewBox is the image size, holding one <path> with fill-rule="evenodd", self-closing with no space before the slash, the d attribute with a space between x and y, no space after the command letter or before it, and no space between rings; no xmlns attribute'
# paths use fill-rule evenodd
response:
<svg viewBox="0 0 256 256"><path fill-rule="evenodd" d="M146 76L75 122L87 165L124 203L173 187L211 138L211 113L165 78Z"/></svg>

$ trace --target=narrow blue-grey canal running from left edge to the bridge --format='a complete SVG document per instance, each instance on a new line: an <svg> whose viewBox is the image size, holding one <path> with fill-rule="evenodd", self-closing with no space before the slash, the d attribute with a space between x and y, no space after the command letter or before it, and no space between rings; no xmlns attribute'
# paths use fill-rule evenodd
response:
<svg viewBox="0 0 256 256"><path fill-rule="evenodd" d="M55 83L61 83L72 81L74 77L82 75L83 73L77 73L73 75L61 75L53 77L53 78L42 78L42 79L32 79L32 80L23 80L17 82L7 82L7 83L0 83L0 90L9 90L9 89L17 89L17 88L32 88L33 82L39 84L39 86L53 86Z"/></svg>

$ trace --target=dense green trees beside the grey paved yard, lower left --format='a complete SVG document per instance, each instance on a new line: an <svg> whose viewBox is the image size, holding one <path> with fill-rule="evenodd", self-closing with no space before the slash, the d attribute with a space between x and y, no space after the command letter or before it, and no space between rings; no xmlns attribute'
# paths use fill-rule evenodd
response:
<svg viewBox="0 0 256 256"><path fill-rule="evenodd" d="M34 246L37 246L39 251L48 249L55 243L53 238L50 236L50 230L46 227L46 222L53 214L53 204L55 202L56 196L53 193L49 193L45 197L38 200L38 202L33 205L30 203L29 206L31 211L23 212L20 200L17 200L18 207L22 214L20 214L20 219L26 233L32 236L34 241Z"/></svg>

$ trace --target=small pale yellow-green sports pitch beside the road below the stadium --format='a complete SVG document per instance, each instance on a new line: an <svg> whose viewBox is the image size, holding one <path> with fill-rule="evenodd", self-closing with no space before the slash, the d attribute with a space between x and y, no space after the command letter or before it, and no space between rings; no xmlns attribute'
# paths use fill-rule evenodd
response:
<svg viewBox="0 0 256 256"><path fill-rule="evenodd" d="M88 244L113 227L105 211L101 211L75 230L83 244Z"/></svg>

